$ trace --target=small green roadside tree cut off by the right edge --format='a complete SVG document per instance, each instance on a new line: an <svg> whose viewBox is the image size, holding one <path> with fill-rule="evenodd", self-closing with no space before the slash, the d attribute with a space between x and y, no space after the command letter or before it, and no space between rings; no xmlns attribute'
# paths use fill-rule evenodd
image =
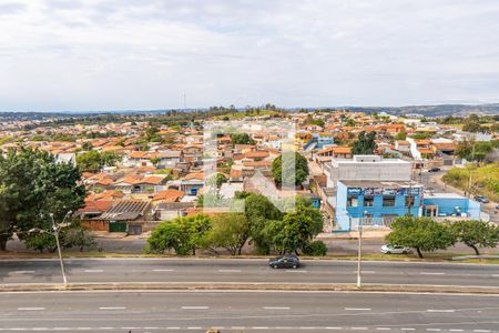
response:
<svg viewBox="0 0 499 333"><path fill-rule="evenodd" d="M482 221L457 221L451 224L456 241L473 249L480 255L480 248L496 248L499 242L499 226Z"/></svg>

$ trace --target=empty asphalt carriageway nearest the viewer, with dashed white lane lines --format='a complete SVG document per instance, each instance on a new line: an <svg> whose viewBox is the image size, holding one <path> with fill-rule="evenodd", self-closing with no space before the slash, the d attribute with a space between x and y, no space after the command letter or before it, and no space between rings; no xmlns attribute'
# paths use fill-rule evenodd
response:
<svg viewBox="0 0 499 333"><path fill-rule="evenodd" d="M499 297L338 292L0 294L0 331L497 332Z"/></svg>

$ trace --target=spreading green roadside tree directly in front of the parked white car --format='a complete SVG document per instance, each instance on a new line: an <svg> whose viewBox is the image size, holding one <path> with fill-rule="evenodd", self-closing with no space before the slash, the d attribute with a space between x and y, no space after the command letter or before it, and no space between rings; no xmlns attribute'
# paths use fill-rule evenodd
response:
<svg viewBox="0 0 499 333"><path fill-rule="evenodd" d="M419 258L422 252L445 250L456 241L446 224L430 218L399 216L391 223L391 230L385 240L393 245L416 249Z"/></svg>

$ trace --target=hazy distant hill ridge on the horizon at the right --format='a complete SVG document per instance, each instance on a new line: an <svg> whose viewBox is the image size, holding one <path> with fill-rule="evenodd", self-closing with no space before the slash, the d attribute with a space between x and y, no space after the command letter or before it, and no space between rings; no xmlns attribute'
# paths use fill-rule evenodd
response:
<svg viewBox="0 0 499 333"><path fill-rule="evenodd" d="M339 108L338 108L339 109ZM468 115L476 114L499 114L499 103L493 104L442 104L442 105L409 105L409 107L347 107L344 108L352 111L359 111L366 113L386 112L394 115L406 115L410 113L419 113L425 117L446 117L446 115Z"/></svg>

